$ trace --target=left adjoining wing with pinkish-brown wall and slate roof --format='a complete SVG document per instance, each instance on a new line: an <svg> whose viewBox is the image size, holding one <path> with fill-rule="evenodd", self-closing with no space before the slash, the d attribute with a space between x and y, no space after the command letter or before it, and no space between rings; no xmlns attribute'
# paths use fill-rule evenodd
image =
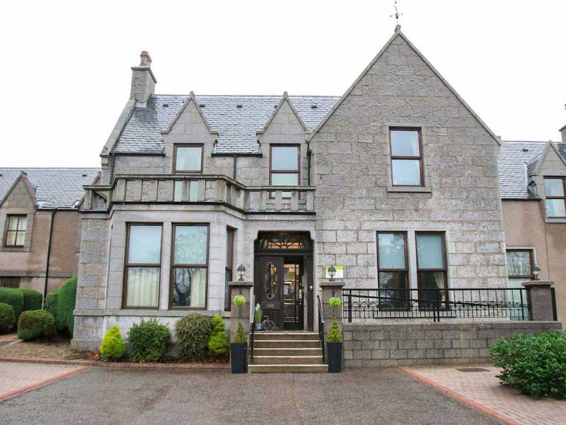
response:
<svg viewBox="0 0 566 425"><path fill-rule="evenodd" d="M79 204L98 171L0 168L0 286L43 294L76 276Z"/></svg>

